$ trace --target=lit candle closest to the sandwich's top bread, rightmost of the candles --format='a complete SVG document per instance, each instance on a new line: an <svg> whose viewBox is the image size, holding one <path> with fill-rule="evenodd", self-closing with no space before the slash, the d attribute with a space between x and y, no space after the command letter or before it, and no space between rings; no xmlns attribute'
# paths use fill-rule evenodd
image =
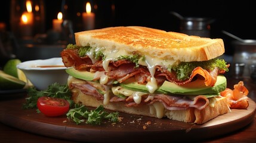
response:
<svg viewBox="0 0 256 143"><path fill-rule="evenodd" d="M95 14L91 12L91 4L87 2L86 13L82 13L82 21L84 25L84 30L94 29Z"/></svg>

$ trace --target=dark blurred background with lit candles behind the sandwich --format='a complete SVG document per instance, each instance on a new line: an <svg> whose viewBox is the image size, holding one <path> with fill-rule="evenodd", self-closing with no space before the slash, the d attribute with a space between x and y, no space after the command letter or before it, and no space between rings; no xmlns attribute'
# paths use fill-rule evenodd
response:
<svg viewBox="0 0 256 143"><path fill-rule="evenodd" d="M231 63L239 44L223 30L242 39L256 39L255 6L256 1L249 0L4 0L0 4L0 66L10 58L60 57L60 51L74 43L74 32L110 26L146 26L222 38L225 58ZM252 48L243 49L254 54L255 45L249 43ZM256 55L249 58L256 60Z"/></svg>

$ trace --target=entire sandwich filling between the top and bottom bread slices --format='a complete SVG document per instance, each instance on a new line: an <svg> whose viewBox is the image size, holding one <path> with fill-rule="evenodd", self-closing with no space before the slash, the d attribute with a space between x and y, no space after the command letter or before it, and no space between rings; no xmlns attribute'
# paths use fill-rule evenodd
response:
<svg viewBox="0 0 256 143"><path fill-rule="evenodd" d="M125 49L72 44L61 52L61 57L66 67L72 67L67 70L71 89L78 88L85 95L103 100L103 104L126 102L127 107L149 104L162 108L157 112L159 118L164 116L164 108L202 110L214 106L216 98L221 98L220 92L226 89L226 78L221 74L229 67L217 58L180 62L139 55L136 51L128 53ZM175 88L181 89L174 92Z"/></svg>

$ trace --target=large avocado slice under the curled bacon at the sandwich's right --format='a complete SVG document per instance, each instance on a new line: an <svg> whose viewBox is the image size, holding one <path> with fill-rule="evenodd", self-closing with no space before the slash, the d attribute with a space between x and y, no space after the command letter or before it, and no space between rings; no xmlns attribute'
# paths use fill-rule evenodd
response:
<svg viewBox="0 0 256 143"><path fill-rule="evenodd" d="M227 87L227 79L223 75L217 77L217 82L213 87L205 86L205 80L197 79L193 82L187 83L186 85L176 85L175 83L165 81L159 88L160 91L168 92L171 94L181 95L205 95L205 94L216 94L224 91Z"/></svg>

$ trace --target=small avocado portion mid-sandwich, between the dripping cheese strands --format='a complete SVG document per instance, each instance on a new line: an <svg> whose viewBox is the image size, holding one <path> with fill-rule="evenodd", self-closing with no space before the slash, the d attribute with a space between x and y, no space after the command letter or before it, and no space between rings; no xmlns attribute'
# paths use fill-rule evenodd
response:
<svg viewBox="0 0 256 143"><path fill-rule="evenodd" d="M125 82L120 83L120 86L123 88L129 89L131 91L140 91L149 93L149 90L146 88L146 84L139 84L135 81L133 77L125 80ZM159 91L159 88L155 91L155 93L167 93L165 91Z"/></svg>

